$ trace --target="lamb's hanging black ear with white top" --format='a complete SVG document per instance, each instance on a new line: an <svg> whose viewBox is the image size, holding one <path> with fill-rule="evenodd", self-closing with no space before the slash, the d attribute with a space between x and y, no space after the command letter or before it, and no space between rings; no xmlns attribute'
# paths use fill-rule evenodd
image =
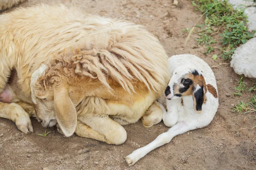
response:
<svg viewBox="0 0 256 170"><path fill-rule="evenodd" d="M200 114L202 112L202 105L205 100L205 91L204 86L196 85L193 87L193 99L194 99L194 109L195 112Z"/></svg>

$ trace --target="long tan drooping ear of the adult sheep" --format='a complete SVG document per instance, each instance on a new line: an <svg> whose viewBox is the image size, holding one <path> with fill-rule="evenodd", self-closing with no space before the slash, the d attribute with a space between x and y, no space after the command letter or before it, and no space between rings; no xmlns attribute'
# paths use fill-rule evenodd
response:
<svg viewBox="0 0 256 170"><path fill-rule="evenodd" d="M55 115L62 132L65 136L73 135L76 130L76 107L71 101L68 90L65 87L54 88Z"/></svg>

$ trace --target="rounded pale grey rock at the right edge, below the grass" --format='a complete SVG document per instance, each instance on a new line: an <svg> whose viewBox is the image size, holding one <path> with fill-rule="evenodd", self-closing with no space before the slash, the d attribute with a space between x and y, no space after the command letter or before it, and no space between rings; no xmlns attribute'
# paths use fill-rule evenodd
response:
<svg viewBox="0 0 256 170"><path fill-rule="evenodd" d="M236 74L256 78L256 38L236 48L230 65Z"/></svg>

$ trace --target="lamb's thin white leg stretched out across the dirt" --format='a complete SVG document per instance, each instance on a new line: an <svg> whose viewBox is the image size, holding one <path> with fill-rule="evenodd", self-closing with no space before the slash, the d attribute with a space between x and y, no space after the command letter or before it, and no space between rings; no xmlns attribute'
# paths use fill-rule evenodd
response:
<svg viewBox="0 0 256 170"><path fill-rule="evenodd" d="M141 147L140 149L134 150L133 153L125 157L126 163L131 166L138 160L143 158L151 150L160 147L164 144L169 143L174 136L185 133L189 130L197 128L196 122L178 122L176 125L171 127L167 132L160 134L157 138L150 144Z"/></svg>

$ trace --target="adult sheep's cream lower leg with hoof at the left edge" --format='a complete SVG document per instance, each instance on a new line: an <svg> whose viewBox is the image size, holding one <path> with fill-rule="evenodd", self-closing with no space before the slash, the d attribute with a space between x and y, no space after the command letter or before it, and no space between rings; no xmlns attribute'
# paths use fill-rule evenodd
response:
<svg viewBox="0 0 256 170"><path fill-rule="evenodd" d="M0 102L0 117L12 120L23 133L33 132L29 114L16 103Z"/></svg>

